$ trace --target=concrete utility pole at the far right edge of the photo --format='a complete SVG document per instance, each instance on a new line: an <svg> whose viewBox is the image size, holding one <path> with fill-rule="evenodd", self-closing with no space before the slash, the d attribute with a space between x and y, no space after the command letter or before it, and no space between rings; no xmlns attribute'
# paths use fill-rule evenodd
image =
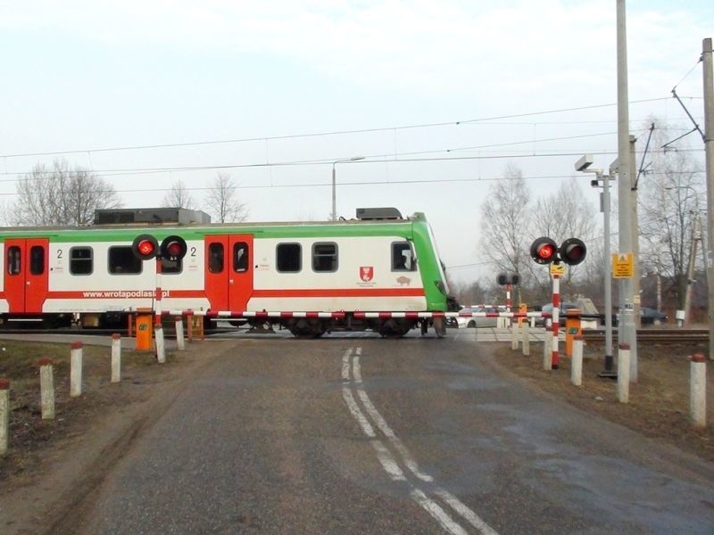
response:
<svg viewBox="0 0 714 535"><path fill-rule="evenodd" d="M704 78L704 152L707 171L707 283L709 285L709 358L714 360L714 74L711 67L711 37L702 40Z"/></svg>

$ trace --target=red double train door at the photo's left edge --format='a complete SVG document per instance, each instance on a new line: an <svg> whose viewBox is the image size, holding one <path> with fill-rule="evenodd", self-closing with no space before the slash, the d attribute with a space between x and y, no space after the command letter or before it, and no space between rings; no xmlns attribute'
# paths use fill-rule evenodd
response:
<svg viewBox="0 0 714 535"><path fill-rule="evenodd" d="M4 245L4 293L10 313L41 313L49 288L49 240L12 238Z"/></svg>

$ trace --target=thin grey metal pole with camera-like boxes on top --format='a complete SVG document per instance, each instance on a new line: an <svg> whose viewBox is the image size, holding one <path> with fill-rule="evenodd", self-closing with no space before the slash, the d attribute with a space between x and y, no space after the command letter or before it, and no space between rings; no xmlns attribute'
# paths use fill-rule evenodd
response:
<svg viewBox="0 0 714 535"><path fill-rule="evenodd" d="M617 372L613 371L612 359L612 275L610 262L610 178L613 170L618 168L618 161L610 164L610 169L606 175L602 169L588 169L593 164L593 155L585 154L575 164L575 169L581 173L594 173L595 179L591 181L593 187L598 187L602 182L602 218L603 231L605 234L604 256L605 256L605 369L600 373L601 377L617 377Z"/></svg>

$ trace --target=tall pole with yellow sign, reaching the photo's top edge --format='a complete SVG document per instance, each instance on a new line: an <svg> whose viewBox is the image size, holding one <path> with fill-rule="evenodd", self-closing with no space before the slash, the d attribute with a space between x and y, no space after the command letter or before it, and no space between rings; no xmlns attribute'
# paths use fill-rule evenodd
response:
<svg viewBox="0 0 714 535"><path fill-rule="evenodd" d="M627 22L625 0L618 0L618 215L619 254L632 253L632 214L630 210L630 132L627 95ZM636 263L636 259L633 258ZM619 343L630 347L630 381L637 382L637 333L634 317L632 278L622 278L619 283L620 322Z"/></svg>

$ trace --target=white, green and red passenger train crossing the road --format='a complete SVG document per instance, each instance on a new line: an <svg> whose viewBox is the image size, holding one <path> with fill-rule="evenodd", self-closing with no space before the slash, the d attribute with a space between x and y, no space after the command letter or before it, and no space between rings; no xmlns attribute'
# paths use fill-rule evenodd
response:
<svg viewBox="0 0 714 535"><path fill-rule="evenodd" d="M144 243L137 251L141 239L162 243L155 260L142 256ZM182 251L162 254L167 240ZM111 328L161 308L202 313L207 328L220 312L296 337L366 329L400 337L416 327L442 337L438 313L459 309L421 212L211 223L200 210L96 210L91 225L2 228L0 241L0 326Z"/></svg>

